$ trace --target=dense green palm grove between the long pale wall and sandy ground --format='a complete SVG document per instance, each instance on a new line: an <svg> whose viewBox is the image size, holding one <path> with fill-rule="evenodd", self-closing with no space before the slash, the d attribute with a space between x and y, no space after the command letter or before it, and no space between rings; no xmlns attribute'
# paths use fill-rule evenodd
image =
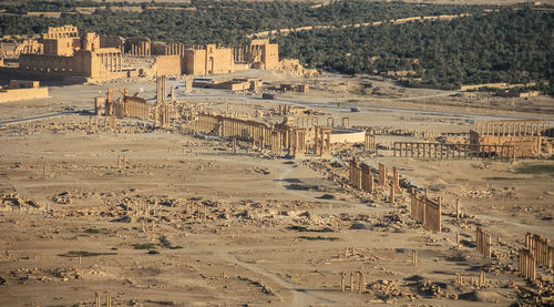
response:
<svg viewBox="0 0 554 307"><path fill-rule="evenodd" d="M490 82L526 83L554 93L554 12L501 9L450 21L291 33L281 55L342 73L412 70L422 83L453 89Z"/></svg>

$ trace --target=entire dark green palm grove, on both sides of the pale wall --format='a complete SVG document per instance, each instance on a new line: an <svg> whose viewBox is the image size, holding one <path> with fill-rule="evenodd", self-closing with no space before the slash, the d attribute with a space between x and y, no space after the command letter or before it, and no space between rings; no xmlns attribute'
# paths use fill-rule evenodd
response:
<svg viewBox="0 0 554 307"><path fill-rule="evenodd" d="M0 3L0 35L33 34L74 24L80 31L187 44L245 43L247 34L306 25L350 25L392 19L469 13L450 21L334 28L278 37L283 58L341 72L412 71L420 83L442 89L492 82L537 82L554 94L554 11L529 6L452 6L366 0L327 6L270 1L144 2L12 1ZM79 7L93 8L92 14ZM490 9L485 11L485 9ZM491 10L492 9L492 10ZM27 11L59 11L58 18L23 17ZM529 89L525 89L529 90Z"/></svg>

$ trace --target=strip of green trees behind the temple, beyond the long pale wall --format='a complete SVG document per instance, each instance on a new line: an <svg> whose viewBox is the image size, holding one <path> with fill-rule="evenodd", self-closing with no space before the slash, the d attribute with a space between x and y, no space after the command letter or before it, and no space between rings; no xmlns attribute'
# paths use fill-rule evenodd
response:
<svg viewBox="0 0 554 307"><path fill-rule="evenodd" d="M11 13L58 11L61 18L0 16L0 35L42 33L48 27L74 24L80 31L122 37L148 37L182 43L238 44L258 31L315 24L351 24L403 17L480 11L471 6L421 6L410 3L336 1L312 8L310 3L273 1L192 1L191 3L141 3L142 11L117 10L136 3L82 1L17 1L0 4ZM96 8L81 14L78 7ZM154 7L154 8L152 8ZM160 8L162 7L162 8Z"/></svg>

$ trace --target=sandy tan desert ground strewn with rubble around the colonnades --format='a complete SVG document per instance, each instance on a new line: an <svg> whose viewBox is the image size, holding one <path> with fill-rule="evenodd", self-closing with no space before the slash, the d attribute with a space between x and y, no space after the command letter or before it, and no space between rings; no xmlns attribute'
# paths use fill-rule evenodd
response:
<svg viewBox="0 0 554 307"><path fill-rule="evenodd" d="M268 88L290 80L258 71L219 78L239 75L258 76ZM505 100L493 105L485 99L470 99L468 108L450 92L380 79L296 81L316 89L278 93L278 101L195 89L177 91L176 104L254 115L284 102L318 110L320 122L349 116L352 125L438 134L468 132L469 119L553 120L548 98L533 100L545 110L537 114L523 100L515 110L500 108ZM360 92L367 82L380 93ZM550 294L540 295L517 275L516 250L527 232L554 236L552 173L517 173L522 165L554 167L553 160L393 157L386 149L391 142L421 139L389 134L377 136L378 153L337 145L328 158L289 160L247 151L244 143L233 154L227 140L181 133L179 119L170 130L124 120L121 132L91 133L86 112L71 111L91 109L111 86L151 101L155 90L152 80L136 79L51 88L50 99L0 104L0 306L94 306L94 293L102 291L113 306L552 304L552 284L545 286ZM7 122L44 114L57 116ZM391 205L386 188L368 195L329 180L324 166L347 176L348 153L372 167L397 166L402 181L443 196L442 232L424 231L409 217L407 191ZM119 156L125 156L124 167ZM495 257L479 256L476 226L492 234ZM340 291L341 273L360 270L363 294L357 276L356 291ZM478 288L470 280L480 270L488 283ZM538 272L552 280L552 272Z"/></svg>

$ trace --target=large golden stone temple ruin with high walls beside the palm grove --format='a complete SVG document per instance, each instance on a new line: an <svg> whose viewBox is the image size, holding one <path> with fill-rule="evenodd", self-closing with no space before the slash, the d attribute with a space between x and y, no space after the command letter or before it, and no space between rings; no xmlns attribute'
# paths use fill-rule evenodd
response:
<svg viewBox="0 0 554 307"><path fill-rule="evenodd" d="M148 38L79 33L73 25L49 28L41 40L29 40L18 48L19 52L11 52L19 55L19 66L10 68L13 72L88 81L138 74L205 75L281 66L278 45L268 40L253 40L247 45L233 48L185 45L152 42ZM123 57L134 59L124 68Z"/></svg>

